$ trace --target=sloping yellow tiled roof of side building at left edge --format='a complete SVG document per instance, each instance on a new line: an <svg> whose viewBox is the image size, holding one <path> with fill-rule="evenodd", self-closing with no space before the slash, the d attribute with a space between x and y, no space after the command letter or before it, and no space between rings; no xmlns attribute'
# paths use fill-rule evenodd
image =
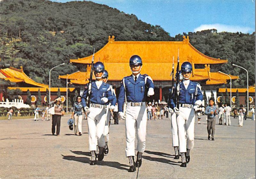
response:
<svg viewBox="0 0 256 179"><path fill-rule="evenodd" d="M38 87L48 87L48 85L44 85L41 83L37 83L31 78L29 78L24 72L22 66L20 69L9 67L0 70L0 78L9 80L11 82L19 83L24 82L30 85L38 86Z"/></svg>

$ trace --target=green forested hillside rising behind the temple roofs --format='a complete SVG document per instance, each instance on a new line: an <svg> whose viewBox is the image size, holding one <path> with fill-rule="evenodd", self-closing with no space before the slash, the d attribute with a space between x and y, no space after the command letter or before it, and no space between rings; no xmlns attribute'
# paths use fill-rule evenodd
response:
<svg viewBox="0 0 256 179"><path fill-rule="evenodd" d="M91 55L94 47L97 51L108 42L108 35L114 35L116 41L181 41L183 35L170 37L160 26L142 22L135 15L87 1L4 0L0 13L1 60L23 66L28 76L45 84L53 66ZM219 68L239 75L236 86L246 84L246 75L231 68L232 63L248 69L249 83L254 84L254 34L209 30L188 35L191 44L205 55L229 60ZM52 71L53 86L62 86L58 75L76 70L67 64Z"/></svg>

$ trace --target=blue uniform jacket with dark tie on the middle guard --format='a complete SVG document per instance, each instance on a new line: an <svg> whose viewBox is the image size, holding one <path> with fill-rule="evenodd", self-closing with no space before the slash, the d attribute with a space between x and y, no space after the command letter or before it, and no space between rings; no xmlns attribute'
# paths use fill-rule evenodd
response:
<svg viewBox="0 0 256 179"><path fill-rule="evenodd" d="M145 82L146 79L146 82ZM123 84L124 82L124 84ZM124 89L125 86L125 89ZM147 90L146 90L147 87ZM125 102L125 92L127 102L145 102L148 88L154 88L152 79L144 74L139 75L137 81L135 82L133 76L124 77L121 86L120 93L118 96L118 112L123 112L123 104Z"/></svg>

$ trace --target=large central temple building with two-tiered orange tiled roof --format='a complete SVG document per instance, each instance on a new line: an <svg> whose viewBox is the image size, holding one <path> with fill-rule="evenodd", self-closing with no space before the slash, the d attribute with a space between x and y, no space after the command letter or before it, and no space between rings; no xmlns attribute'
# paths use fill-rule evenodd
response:
<svg viewBox="0 0 256 179"><path fill-rule="evenodd" d="M180 66L185 61L190 62L193 66L190 79L199 82L201 86L219 86L227 84L230 79L222 73L210 71L210 65L224 64L228 60L204 55L189 43L188 36L183 36L183 41L115 41L114 38L114 36L108 37L108 43L94 54L94 62L104 63L109 74L108 83L116 88L117 95L122 78L131 75L129 59L132 55L141 57L143 63L141 74L148 74L154 81L155 95L152 97L154 100L167 100L168 90L172 84L170 74L173 58L176 71L178 51ZM70 59L70 63L75 63L81 69L86 66L87 69L87 71L80 69L81 72L68 76L70 82L77 85L87 84L90 77L92 55ZM200 68L200 66L204 66L204 68ZM238 76L230 76L232 80L238 79ZM66 79L67 75L59 76L59 78Z"/></svg>

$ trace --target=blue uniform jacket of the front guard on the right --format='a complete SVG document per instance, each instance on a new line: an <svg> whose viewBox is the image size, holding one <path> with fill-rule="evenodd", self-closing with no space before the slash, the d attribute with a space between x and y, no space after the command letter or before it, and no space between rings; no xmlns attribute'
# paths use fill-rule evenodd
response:
<svg viewBox="0 0 256 179"><path fill-rule="evenodd" d="M168 107L171 107L172 109L176 107L176 84L174 85L175 89L173 90L173 93L169 96L168 101ZM186 89L183 82L180 82L180 95L179 100L180 104L193 104L195 105L195 102L197 100L203 100L203 94L201 92L201 86L193 81L189 82L188 88Z"/></svg>

